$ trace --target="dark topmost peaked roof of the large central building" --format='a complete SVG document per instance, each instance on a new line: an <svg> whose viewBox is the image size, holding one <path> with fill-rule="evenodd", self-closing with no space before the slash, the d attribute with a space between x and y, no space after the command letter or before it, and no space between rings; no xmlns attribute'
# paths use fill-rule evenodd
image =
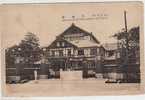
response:
<svg viewBox="0 0 145 100"><path fill-rule="evenodd" d="M89 32L87 32L87 31L85 31L85 30L79 28L79 27L76 26L74 23L72 23L72 25L71 25L69 28L67 28L63 33L61 33L59 36L67 35L67 34L70 34L70 33L72 33L72 34L83 33L83 34L85 34L85 35L91 36L91 37L95 40L96 43L100 43L100 42L94 37L94 35L93 35L92 33L89 33Z"/></svg>

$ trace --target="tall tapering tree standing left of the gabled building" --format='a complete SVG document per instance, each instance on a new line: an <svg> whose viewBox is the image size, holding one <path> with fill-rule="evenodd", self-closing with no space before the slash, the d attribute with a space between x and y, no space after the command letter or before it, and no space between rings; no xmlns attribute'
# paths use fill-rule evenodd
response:
<svg viewBox="0 0 145 100"><path fill-rule="evenodd" d="M24 63L34 64L40 60L39 39L35 34L28 32L19 47L21 48L20 56L24 58Z"/></svg>

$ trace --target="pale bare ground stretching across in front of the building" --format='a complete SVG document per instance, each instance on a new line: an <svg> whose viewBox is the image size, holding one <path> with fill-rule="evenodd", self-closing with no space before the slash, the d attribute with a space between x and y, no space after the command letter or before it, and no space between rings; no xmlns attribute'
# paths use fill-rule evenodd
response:
<svg viewBox="0 0 145 100"><path fill-rule="evenodd" d="M83 79L62 81L33 80L24 84L6 84L6 96L84 96L139 93L140 84L104 83L104 79Z"/></svg>

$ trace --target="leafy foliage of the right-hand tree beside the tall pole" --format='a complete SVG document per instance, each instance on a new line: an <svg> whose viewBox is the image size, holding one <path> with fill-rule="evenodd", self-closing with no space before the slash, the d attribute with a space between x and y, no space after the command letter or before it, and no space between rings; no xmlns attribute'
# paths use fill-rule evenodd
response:
<svg viewBox="0 0 145 100"><path fill-rule="evenodd" d="M131 28L127 33L122 30L114 34L113 37L119 41L122 64L129 64L129 62L135 63L139 60L139 26Z"/></svg>

